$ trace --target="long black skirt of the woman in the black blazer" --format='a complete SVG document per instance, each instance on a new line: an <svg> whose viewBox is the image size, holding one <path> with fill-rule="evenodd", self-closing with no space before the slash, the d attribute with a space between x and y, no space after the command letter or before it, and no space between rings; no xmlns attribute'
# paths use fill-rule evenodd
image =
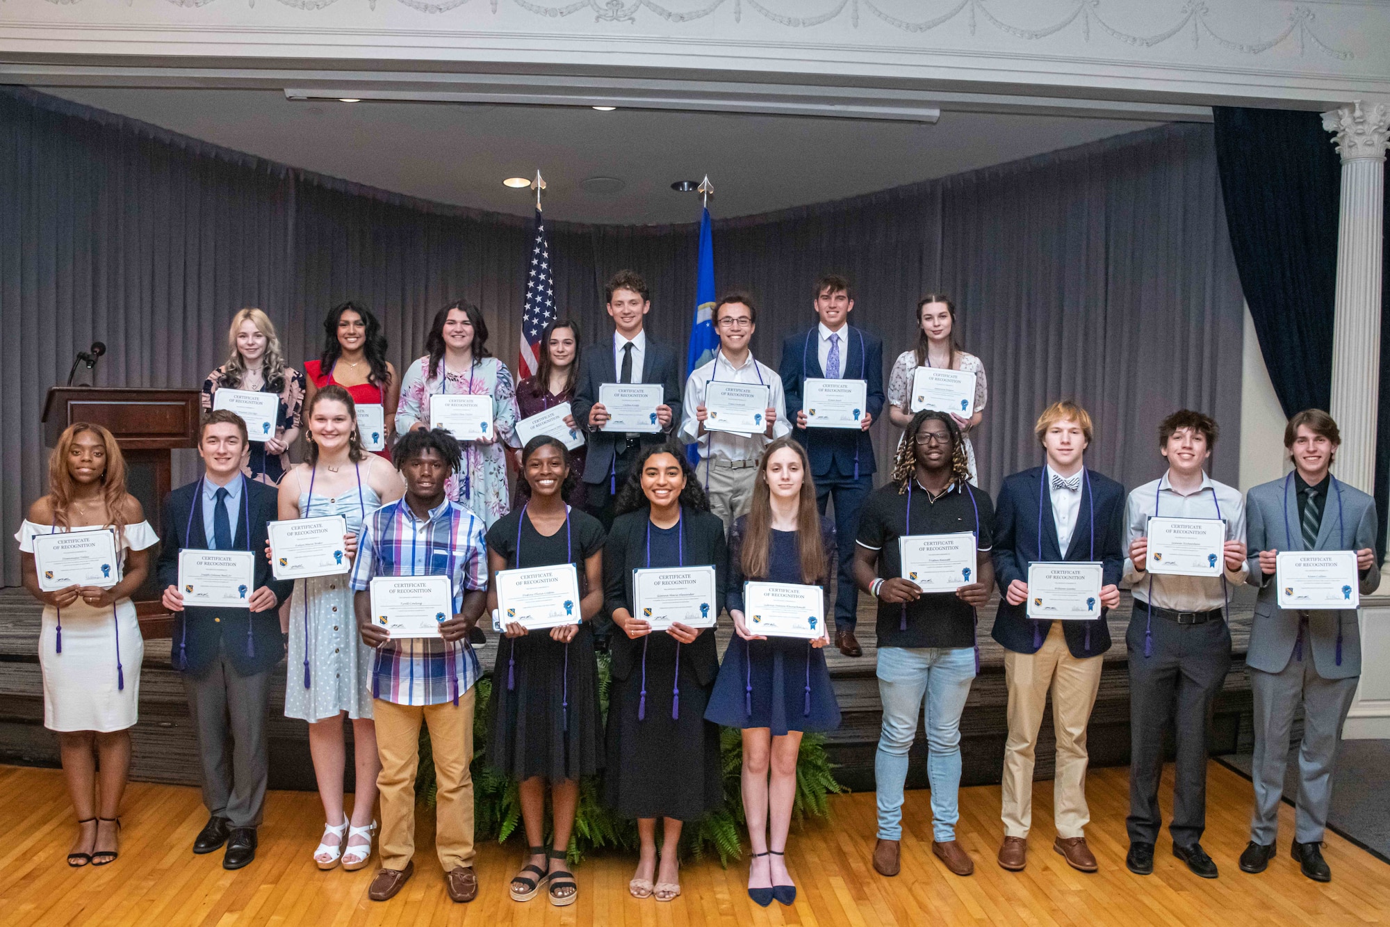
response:
<svg viewBox="0 0 1390 927"><path fill-rule="evenodd" d="M669 633L648 635L645 650L609 690L603 798L623 817L698 821L724 802L719 725L705 720L713 685L699 683L684 654L677 676Z"/></svg>

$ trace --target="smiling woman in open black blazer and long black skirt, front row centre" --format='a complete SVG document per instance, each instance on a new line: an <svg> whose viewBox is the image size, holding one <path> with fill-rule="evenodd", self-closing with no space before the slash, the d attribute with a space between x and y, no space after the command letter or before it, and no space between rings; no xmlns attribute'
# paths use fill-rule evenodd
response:
<svg viewBox="0 0 1390 927"><path fill-rule="evenodd" d="M671 901L681 892L676 859L681 824L699 820L723 800L719 725L705 720L719 653L713 628L677 622L670 631L652 632L651 622L635 617L632 571L713 565L714 601L723 603L724 525L710 514L676 444L644 448L617 512L603 550L605 607L621 631L610 644L605 798L619 814L638 818L641 857L628 891ZM659 817L664 827L657 873Z"/></svg>

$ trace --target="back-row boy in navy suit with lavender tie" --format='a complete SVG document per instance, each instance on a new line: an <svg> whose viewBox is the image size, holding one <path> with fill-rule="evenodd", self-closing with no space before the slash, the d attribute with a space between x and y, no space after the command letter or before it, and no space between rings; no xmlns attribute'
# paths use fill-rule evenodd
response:
<svg viewBox="0 0 1390 927"><path fill-rule="evenodd" d="M819 324L783 341L781 379L787 394L787 416L796 423L794 434L810 458L820 514L835 500L837 537L859 536L859 509L873 489L874 458L869 426L883 411L883 340L849 324L855 308L853 291L844 277L816 281L812 303ZM865 415L859 430L808 429L802 411L806 379L863 380ZM855 639L855 608L859 589L853 576L855 546L840 544L840 578L835 593L835 646L847 657L860 657Z"/></svg>

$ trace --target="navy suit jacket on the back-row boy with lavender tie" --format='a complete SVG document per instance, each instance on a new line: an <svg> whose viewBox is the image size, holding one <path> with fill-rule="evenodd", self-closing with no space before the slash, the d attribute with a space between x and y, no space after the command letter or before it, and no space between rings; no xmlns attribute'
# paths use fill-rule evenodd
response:
<svg viewBox="0 0 1390 927"><path fill-rule="evenodd" d="M874 419L883 412L883 340L855 326L845 327L844 372L845 380L863 380L867 384L866 406ZM873 440L869 431L849 429L799 429L796 413L802 408L802 384L806 377L813 380L826 376L820 369L817 354L820 326L787 335L783 341L783 360L778 373L787 394L787 418L791 433L796 436L806 457L810 458L810 473L821 477L853 477L858 461L859 475L873 473L877 468L873 459Z"/></svg>

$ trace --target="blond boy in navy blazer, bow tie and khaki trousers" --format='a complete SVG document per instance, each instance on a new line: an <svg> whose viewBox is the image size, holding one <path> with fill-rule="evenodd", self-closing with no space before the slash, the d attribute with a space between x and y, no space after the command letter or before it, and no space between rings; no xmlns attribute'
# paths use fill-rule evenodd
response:
<svg viewBox="0 0 1390 927"><path fill-rule="evenodd" d="M1033 821L1033 761L1038 725L1052 693L1056 777L1052 784L1054 849L1083 873L1094 873L1086 845L1086 725L1101 683L1101 654L1111 649L1105 612L1120 601L1125 568L1125 487L1083 462L1091 416L1074 402L1054 402L1034 433L1047 454L1042 466L1004 480L994 515L994 575L1004 601L994 639L1004 649L1009 689L1009 739L1004 749L1004 843L999 866L1027 863ZM1027 617L1029 565L1102 564L1094 621L1034 621Z"/></svg>

